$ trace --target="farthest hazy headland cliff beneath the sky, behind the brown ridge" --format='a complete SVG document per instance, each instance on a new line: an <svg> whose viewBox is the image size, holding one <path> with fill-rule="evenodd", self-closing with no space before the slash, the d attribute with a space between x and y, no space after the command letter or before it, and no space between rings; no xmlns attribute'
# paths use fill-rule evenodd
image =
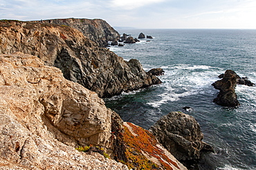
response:
<svg viewBox="0 0 256 170"><path fill-rule="evenodd" d="M38 22L38 21L37 21ZM120 34L111 25L102 19L51 19L42 20L42 23L67 25L82 32L91 41L100 47L106 47L108 41L120 38Z"/></svg>

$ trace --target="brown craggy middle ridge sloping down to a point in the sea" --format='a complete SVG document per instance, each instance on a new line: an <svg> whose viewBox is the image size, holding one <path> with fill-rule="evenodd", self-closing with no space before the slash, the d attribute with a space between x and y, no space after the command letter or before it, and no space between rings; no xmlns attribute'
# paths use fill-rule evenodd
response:
<svg viewBox="0 0 256 170"><path fill-rule="evenodd" d="M0 25L0 53L38 56L46 65L60 68L68 80L80 83L100 97L159 82L138 61L124 61L66 25L8 20L0 21Z"/></svg>

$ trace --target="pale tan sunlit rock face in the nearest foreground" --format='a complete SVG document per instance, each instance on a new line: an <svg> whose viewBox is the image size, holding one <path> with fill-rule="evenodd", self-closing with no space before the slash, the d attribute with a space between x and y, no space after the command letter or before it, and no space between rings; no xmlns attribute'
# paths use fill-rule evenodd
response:
<svg viewBox="0 0 256 170"><path fill-rule="evenodd" d="M0 167L3 169L128 169L79 145L109 153L120 117L95 92L67 81L28 54L0 55Z"/></svg>

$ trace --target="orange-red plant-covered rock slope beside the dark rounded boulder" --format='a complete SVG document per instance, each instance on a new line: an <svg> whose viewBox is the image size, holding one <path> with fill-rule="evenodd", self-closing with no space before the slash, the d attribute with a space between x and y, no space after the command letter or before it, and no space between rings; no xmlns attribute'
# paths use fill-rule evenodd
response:
<svg viewBox="0 0 256 170"><path fill-rule="evenodd" d="M180 169L176 162L158 147L156 138L147 130L132 123L125 123L124 140L127 145L128 167L139 169ZM134 135L136 134L136 135Z"/></svg>

